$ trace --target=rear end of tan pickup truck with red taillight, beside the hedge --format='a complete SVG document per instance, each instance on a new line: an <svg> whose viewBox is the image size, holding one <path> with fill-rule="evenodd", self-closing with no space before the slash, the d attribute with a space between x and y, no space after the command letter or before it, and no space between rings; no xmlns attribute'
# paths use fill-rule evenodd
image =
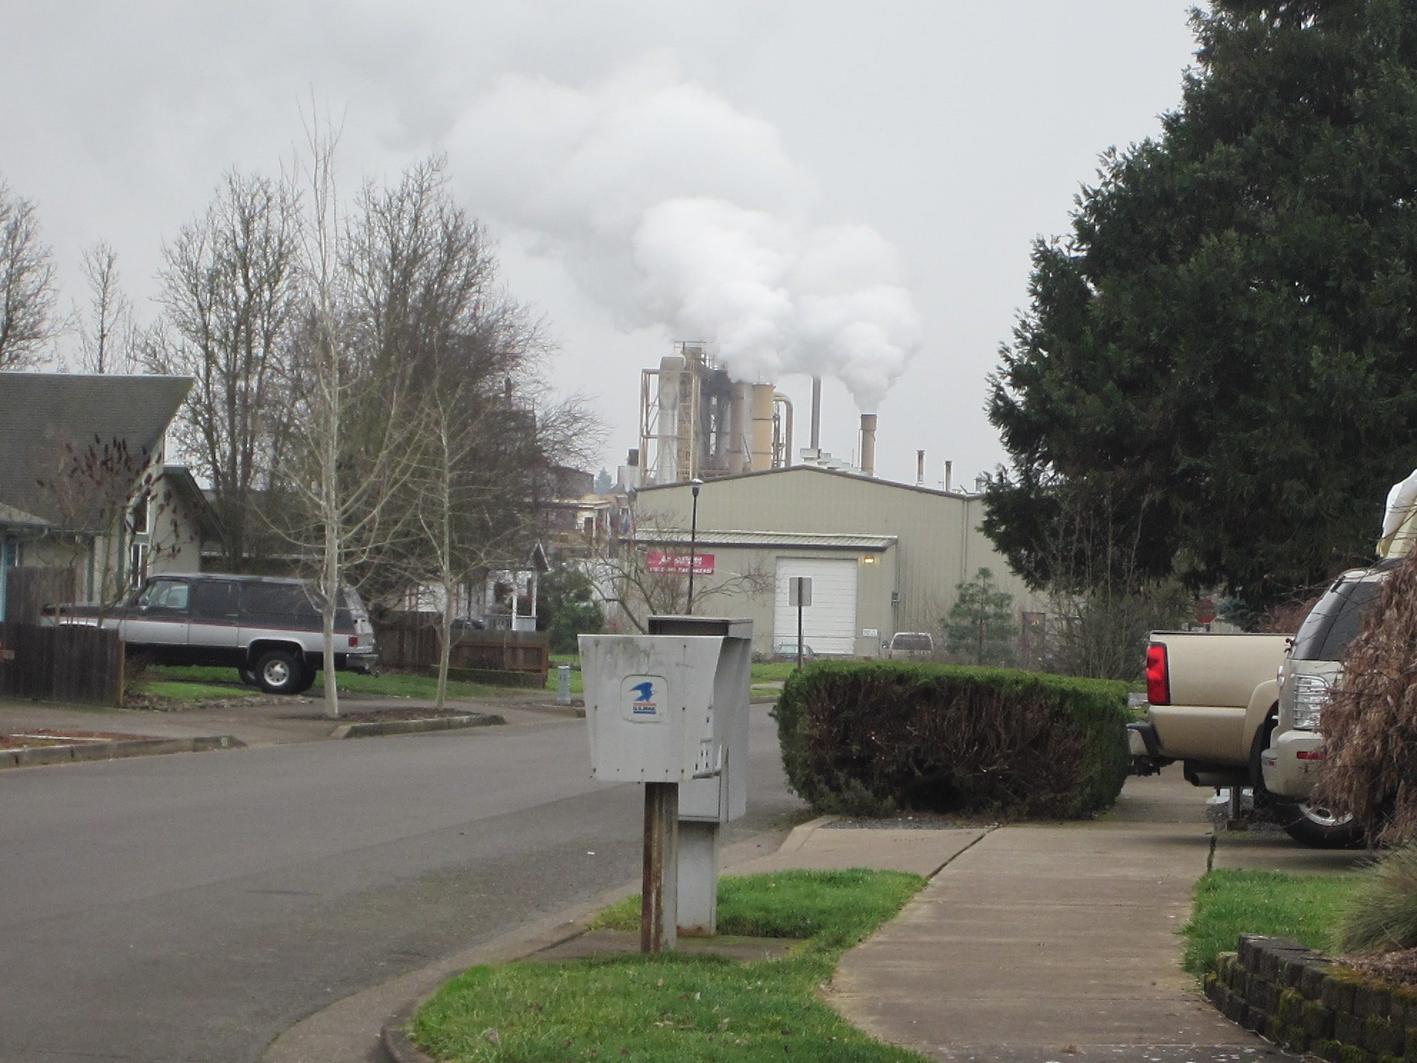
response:
<svg viewBox="0 0 1417 1063"><path fill-rule="evenodd" d="M1180 761L1196 787L1254 787L1280 700L1275 673L1289 635L1153 631L1146 646L1146 720L1128 726L1132 771Z"/></svg>

